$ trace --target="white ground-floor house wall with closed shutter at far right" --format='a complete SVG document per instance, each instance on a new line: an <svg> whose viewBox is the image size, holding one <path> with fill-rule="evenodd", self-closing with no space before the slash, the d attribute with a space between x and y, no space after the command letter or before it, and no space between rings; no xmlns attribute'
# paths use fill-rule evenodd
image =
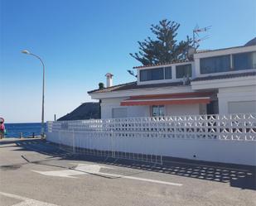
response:
<svg viewBox="0 0 256 206"><path fill-rule="evenodd" d="M235 113L255 113L256 85L244 87L220 88L218 93L221 114L232 113L230 104L241 105ZM249 103L250 102L250 103Z"/></svg>

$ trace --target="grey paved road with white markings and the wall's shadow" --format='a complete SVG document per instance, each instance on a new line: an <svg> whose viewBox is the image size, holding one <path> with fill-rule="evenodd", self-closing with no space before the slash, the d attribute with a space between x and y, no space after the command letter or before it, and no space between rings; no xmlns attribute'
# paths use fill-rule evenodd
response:
<svg viewBox="0 0 256 206"><path fill-rule="evenodd" d="M0 205L256 205L255 168L72 156L39 139L0 141Z"/></svg>

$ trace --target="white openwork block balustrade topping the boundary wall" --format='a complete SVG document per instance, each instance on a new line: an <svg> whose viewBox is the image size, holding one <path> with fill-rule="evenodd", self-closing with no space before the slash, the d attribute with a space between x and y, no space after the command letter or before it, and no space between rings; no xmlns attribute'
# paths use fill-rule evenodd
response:
<svg viewBox="0 0 256 206"><path fill-rule="evenodd" d="M156 137L256 141L256 114L128 117L48 122L48 132L89 137Z"/></svg>

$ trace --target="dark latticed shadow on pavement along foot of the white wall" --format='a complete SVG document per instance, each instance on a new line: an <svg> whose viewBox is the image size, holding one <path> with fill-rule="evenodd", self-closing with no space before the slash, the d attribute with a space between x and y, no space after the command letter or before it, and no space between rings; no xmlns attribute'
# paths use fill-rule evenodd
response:
<svg viewBox="0 0 256 206"><path fill-rule="evenodd" d="M213 163L172 157L163 157L162 165L154 165L138 160L114 159L112 157L106 158L105 156L74 155L68 151L60 150L57 144L41 139L21 139L9 141L8 143L7 141L0 141L0 146L12 143L18 146L15 151L36 151L47 156L60 157L60 160L86 160L125 168L229 183L231 187L256 190L256 166Z"/></svg>

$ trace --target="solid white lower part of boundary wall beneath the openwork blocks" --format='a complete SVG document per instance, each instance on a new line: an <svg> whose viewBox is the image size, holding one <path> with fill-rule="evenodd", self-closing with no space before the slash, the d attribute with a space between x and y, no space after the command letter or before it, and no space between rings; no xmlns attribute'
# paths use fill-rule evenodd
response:
<svg viewBox="0 0 256 206"><path fill-rule="evenodd" d="M123 151L191 160L256 165L256 141L188 140L156 137L91 138L80 132L74 134L48 132L46 139L68 146L85 146L85 148L102 151Z"/></svg>

